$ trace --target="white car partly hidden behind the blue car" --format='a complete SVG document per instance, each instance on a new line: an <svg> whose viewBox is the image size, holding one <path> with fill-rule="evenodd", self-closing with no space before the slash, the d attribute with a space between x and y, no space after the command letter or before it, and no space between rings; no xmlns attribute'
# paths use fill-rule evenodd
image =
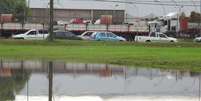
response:
<svg viewBox="0 0 201 101"><path fill-rule="evenodd" d="M83 40L94 40L91 36L95 31L86 31L79 35L78 37L83 39Z"/></svg>

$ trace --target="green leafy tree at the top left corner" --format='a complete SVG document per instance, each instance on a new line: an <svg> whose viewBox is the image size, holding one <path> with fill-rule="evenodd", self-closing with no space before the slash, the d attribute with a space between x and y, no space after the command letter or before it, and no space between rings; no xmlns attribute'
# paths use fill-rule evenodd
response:
<svg viewBox="0 0 201 101"><path fill-rule="evenodd" d="M29 8L26 0L0 0L0 14L13 14L18 22L26 20Z"/></svg>

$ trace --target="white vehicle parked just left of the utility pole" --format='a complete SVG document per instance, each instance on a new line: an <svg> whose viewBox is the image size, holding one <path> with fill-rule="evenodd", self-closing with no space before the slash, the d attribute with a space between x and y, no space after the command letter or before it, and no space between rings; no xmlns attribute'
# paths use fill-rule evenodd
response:
<svg viewBox="0 0 201 101"><path fill-rule="evenodd" d="M31 29L23 34L13 35L13 39L24 39L24 40L44 40L47 39L48 33L40 33L39 30Z"/></svg>

